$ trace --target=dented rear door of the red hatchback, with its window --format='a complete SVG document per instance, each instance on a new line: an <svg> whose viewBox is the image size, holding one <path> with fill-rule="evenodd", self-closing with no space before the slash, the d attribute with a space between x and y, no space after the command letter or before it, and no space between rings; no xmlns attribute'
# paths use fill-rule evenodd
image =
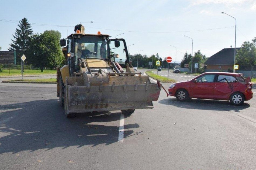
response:
<svg viewBox="0 0 256 170"><path fill-rule="evenodd" d="M230 75L218 75L213 90L214 99L228 100L230 93L236 86L237 79Z"/></svg>

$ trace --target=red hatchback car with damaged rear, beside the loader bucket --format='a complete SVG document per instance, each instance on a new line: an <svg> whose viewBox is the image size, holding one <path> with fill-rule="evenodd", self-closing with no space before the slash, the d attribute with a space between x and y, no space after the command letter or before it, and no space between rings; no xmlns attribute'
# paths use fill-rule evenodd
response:
<svg viewBox="0 0 256 170"><path fill-rule="evenodd" d="M240 73L207 72L192 80L172 84L169 95L179 101L189 98L230 100L234 105L241 105L252 98L252 83Z"/></svg>

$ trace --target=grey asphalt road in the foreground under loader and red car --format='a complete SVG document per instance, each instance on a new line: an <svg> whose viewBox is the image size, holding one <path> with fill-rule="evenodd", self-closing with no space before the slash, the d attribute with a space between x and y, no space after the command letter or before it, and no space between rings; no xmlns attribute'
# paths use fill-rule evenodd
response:
<svg viewBox="0 0 256 170"><path fill-rule="evenodd" d="M56 84L0 83L0 169L256 169L255 98L153 104L118 142L120 111L67 119Z"/></svg>

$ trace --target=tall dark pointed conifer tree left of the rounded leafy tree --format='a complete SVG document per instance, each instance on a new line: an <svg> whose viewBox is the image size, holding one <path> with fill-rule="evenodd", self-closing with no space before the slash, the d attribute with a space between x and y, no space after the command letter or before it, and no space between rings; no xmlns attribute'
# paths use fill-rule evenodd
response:
<svg viewBox="0 0 256 170"><path fill-rule="evenodd" d="M20 57L23 54L26 56L26 51L29 48L28 42L32 36L33 31L26 18L23 18L19 22L18 27L19 28L16 28L15 35L12 35L14 40L12 40L12 43L9 44L11 47L8 50L16 51L17 63L20 63Z"/></svg>

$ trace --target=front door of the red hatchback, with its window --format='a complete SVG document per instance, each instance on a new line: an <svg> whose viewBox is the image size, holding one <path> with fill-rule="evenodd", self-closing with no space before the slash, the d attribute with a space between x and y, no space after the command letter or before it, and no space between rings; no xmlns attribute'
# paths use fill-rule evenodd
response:
<svg viewBox="0 0 256 170"><path fill-rule="evenodd" d="M216 74L205 74L198 77L197 82L190 84L189 96L192 98L212 99Z"/></svg>

